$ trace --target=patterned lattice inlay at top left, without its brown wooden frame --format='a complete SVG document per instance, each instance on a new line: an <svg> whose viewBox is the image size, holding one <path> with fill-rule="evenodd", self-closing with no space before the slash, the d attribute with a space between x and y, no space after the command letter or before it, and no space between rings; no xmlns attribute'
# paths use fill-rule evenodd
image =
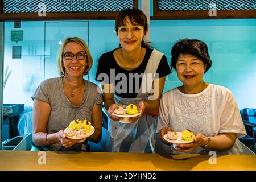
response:
<svg viewBox="0 0 256 182"><path fill-rule="evenodd" d="M133 8L133 0L3 0L3 13L35 13L40 3L46 6L47 12L121 11Z"/></svg>

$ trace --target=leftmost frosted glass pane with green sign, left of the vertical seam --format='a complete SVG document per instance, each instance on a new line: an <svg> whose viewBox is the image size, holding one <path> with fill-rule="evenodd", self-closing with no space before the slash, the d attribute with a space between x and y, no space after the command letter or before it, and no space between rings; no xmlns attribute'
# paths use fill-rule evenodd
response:
<svg viewBox="0 0 256 182"><path fill-rule="evenodd" d="M11 31L23 30L23 40L11 41ZM21 47L21 58L13 59L13 46ZM4 104L32 106L31 96L44 78L44 22L5 22L4 69L9 67L10 77L3 90Z"/></svg>

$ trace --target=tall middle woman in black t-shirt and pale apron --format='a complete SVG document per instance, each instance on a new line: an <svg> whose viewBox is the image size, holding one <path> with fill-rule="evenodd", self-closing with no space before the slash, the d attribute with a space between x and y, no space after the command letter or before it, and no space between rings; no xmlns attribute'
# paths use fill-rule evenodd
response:
<svg viewBox="0 0 256 182"><path fill-rule="evenodd" d="M108 110L108 130L115 152L152 152L150 134L155 128L152 111L159 108L166 76L171 73L166 56L152 49L144 38L148 32L146 15L139 9L121 11L115 20L119 47L104 53L98 61L96 80L102 84ZM130 123L118 122L118 106L137 105L139 115ZM150 115L151 114L151 115Z"/></svg>

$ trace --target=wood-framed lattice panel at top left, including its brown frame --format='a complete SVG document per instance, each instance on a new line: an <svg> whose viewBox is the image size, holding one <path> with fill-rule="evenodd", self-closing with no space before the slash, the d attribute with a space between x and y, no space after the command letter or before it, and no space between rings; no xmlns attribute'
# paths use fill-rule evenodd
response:
<svg viewBox="0 0 256 182"><path fill-rule="evenodd" d="M138 0L0 0L0 20L115 19L133 7Z"/></svg>

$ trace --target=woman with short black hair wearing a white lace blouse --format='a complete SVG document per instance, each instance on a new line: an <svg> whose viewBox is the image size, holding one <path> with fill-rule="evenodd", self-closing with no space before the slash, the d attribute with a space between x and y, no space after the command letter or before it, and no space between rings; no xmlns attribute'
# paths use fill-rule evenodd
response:
<svg viewBox="0 0 256 182"><path fill-rule="evenodd" d="M242 154L237 138L246 136L240 111L232 92L203 80L212 65L207 45L201 40L182 39L172 47L171 67L182 86L163 94L157 131L164 143L169 131L189 129L191 143L172 147L175 153Z"/></svg>

